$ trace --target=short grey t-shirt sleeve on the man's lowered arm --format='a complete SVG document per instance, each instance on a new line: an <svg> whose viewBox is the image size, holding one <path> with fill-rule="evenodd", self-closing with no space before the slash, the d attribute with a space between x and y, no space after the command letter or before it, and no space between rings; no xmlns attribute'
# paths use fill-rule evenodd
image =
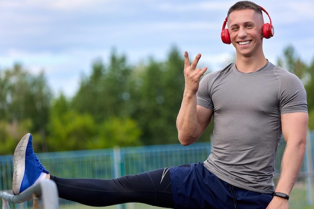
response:
<svg viewBox="0 0 314 209"><path fill-rule="evenodd" d="M307 96L300 79L289 73L280 84L279 110L280 114L292 112L307 113Z"/></svg>

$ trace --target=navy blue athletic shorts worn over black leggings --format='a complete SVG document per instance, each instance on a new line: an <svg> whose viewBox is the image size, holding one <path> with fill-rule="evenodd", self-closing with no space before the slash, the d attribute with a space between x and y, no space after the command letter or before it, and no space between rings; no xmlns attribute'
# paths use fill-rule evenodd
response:
<svg viewBox="0 0 314 209"><path fill-rule="evenodd" d="M265 209L272 199L220 180L202 162L171 167L170 179L175 209Z"/></svg>

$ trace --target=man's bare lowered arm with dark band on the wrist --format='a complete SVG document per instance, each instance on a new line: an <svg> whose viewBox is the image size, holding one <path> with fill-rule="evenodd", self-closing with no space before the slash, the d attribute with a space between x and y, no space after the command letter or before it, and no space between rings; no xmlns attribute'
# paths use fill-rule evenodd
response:
<svg viewBox="0 0 314 209"><path fill-rule="evenodd" d="M280 179L276 191L290 194L299 174L306 144L308 115L304 112L281 115L281 128L286 147L282 156ZM267 209L288 208L288 201L274 196Z"/></svg>

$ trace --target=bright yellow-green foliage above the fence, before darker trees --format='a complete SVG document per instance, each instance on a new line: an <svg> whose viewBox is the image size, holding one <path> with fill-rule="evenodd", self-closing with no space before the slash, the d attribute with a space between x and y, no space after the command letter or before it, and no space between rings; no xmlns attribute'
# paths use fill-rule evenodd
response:
<svg viewBox="0 0 314 209"><path fill-rule="evenodd" d="M106 118L96 122L88 113L77 112L61 94L53 101L47 136L49 151L140 145L140 129L129 118Z"/></svg>

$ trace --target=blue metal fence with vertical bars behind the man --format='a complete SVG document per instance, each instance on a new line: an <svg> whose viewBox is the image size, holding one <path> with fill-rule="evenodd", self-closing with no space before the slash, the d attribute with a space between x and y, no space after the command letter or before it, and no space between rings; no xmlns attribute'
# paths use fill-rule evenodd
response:
<svg viewBox="0 0 314 209"><path fill-rule="evenodd" d="M277 150L274 181L280 173L281 156L285 147L281 140ZM115 178L124 174L134 174L186 163L204 161L210 153L210 143L195 143L189 146L180 144L125 147L114 149L38 153L45 167L55 176L69 178ZM290 209L314 204L313 168L314 131L308 133L307 147L300 175L290 194ZM13 156L0 156L0 190L12 189ZM89 208L59 198L60 208ZM10 208L32 208L32 201L19 205L10 203ZM121 204L111 208L153 208L142 204Z"/></svg>

